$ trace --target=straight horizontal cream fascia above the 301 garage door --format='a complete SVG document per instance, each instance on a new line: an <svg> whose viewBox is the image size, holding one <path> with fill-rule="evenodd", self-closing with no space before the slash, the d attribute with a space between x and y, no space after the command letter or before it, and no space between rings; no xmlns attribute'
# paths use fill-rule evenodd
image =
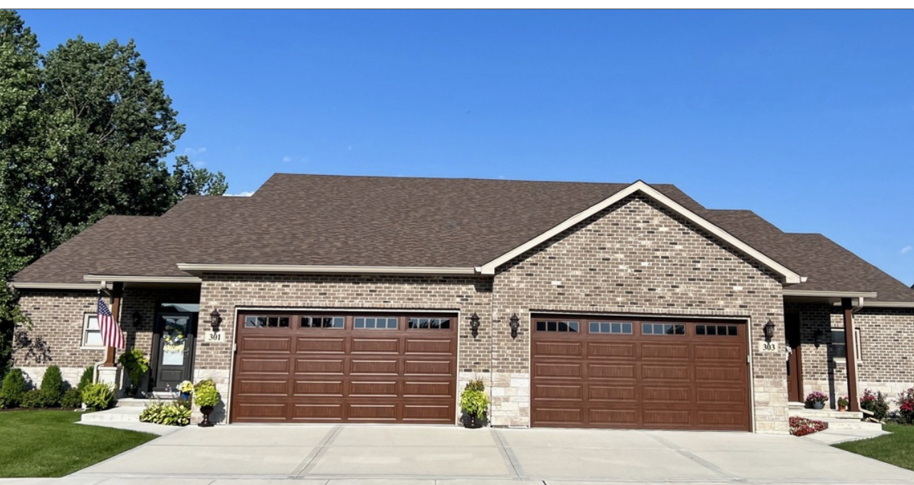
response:
<svg viewBox="0 0 914 485"><path fill-rule="evenodd" d="M188 273L213 271L223 273L381 273L412 275L473 275L475 268L430 268L409 266L324 266L282 264L197 264L178 263L177 269Z"/></svg>

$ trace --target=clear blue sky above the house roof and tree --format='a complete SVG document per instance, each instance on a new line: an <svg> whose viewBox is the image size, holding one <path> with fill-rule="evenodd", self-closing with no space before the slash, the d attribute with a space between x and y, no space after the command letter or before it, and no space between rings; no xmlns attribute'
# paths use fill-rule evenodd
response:
<svg viewBox="0 0 914 485"><path fill-rule="evenodd" d="M232 194L275 172L642 179L914 283L910 10L20 15L43 49L133 37L187 125L175 153Z"/></svg>

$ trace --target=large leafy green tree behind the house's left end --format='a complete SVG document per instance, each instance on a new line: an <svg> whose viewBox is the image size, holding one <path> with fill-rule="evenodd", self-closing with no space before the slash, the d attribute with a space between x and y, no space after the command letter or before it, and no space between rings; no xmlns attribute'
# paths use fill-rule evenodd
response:
<svg viewBox="0 0 914 485"><path fill-rule="evenodd" d="M16 12L0 10L0 278L104 216L157 216L186 195L225 193L223 174L166 162L185 125L133 40L38 48ZM0 374L15 302L4 285Z"/></svg>

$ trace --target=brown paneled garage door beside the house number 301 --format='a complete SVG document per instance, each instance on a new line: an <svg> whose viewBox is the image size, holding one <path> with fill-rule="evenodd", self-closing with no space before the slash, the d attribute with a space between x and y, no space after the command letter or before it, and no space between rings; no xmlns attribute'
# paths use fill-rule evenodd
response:
<svg viewBox="0 0 914 485"><path fill-rule="evenodd" d="M232 422L454 423L453 315L239 314Z"/></svg>

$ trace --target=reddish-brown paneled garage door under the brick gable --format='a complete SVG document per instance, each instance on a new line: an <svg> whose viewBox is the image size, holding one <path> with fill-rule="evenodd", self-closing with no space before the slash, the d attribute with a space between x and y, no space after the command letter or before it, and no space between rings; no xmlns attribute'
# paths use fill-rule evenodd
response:
<svg viewBox="0 0 914 485"><path fill-rule="evenodd" d="M750 430L745 322L534 316L535 427Z"/></svg>

